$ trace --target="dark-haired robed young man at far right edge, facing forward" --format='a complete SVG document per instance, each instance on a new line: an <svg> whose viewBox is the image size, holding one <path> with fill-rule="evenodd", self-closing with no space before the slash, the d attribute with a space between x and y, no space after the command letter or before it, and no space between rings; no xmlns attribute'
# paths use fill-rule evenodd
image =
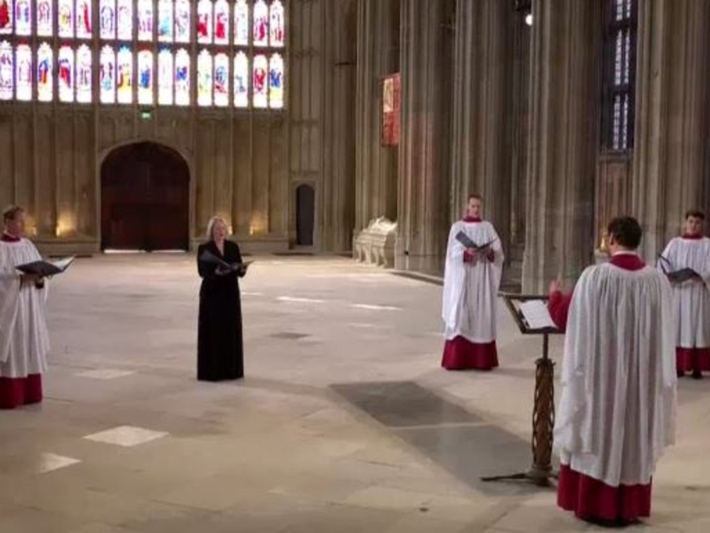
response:
<svg viewBox="0 0 710 533"><path fill-rule="evenodd" d="M692 372L700 379L710 370L710 238L703 236L704 220L702 211L688 211L683 234L671 239L658 261L665 273L684 268L697 273L688 280L671 281L679 378Z"/></svg>

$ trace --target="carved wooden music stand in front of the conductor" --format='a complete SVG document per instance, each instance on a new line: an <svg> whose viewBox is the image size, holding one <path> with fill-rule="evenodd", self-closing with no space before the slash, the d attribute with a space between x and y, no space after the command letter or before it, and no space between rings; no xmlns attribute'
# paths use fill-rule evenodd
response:
<svg viewBox="0 0 710 533"><path fill-rule="evenodd" d="M510 314L523 335L542 335L542 357L535 361L535 400L532 407L532 466L526 472L490 476L481 481L521 480L539 487L549 487L552 472L552 431L555 428L555 362L547 352L550 335L562 334L556 327L532 329L520 310L520 303L531 300L547 302L547 296L513 295L501 292Z"/></svg>

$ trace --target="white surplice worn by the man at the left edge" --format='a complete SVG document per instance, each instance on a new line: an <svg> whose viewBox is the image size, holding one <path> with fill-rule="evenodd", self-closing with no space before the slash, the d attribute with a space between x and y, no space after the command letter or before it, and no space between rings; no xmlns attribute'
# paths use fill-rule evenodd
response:
<svg viewBox="0 0 710 533"><path fill-rule="evenodd" d="M47 369L47 289L21 287L15 267L40 260L27 239L0 241L0 377L26 378Z"/></svg>

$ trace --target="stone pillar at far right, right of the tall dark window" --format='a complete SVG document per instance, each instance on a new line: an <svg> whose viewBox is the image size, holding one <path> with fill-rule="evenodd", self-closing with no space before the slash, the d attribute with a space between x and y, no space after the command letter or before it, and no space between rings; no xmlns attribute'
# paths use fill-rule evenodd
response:
<svg viewBox="0 0 710 533"><path fill-rule="evenodd" d="M710 3L639 2L632 205L655 261L701 207L708 136Z"/></svg>

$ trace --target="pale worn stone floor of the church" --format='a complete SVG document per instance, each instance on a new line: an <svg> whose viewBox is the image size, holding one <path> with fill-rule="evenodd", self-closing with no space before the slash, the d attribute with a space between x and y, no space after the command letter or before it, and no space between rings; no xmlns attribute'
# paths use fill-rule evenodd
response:
<svg viewBox="0 0 710 533"><path fill-rule="evenodd" d="M577 532L530 463L540 339L499 309L501 368L439 368L441 287L261 258L246 379L195 380L188 255L80 259L50 289L41 406L0 412L1 533ZM559 360L560 339L552 341ZM679 386L648 532L710 529L710 380Z"/></svg>

